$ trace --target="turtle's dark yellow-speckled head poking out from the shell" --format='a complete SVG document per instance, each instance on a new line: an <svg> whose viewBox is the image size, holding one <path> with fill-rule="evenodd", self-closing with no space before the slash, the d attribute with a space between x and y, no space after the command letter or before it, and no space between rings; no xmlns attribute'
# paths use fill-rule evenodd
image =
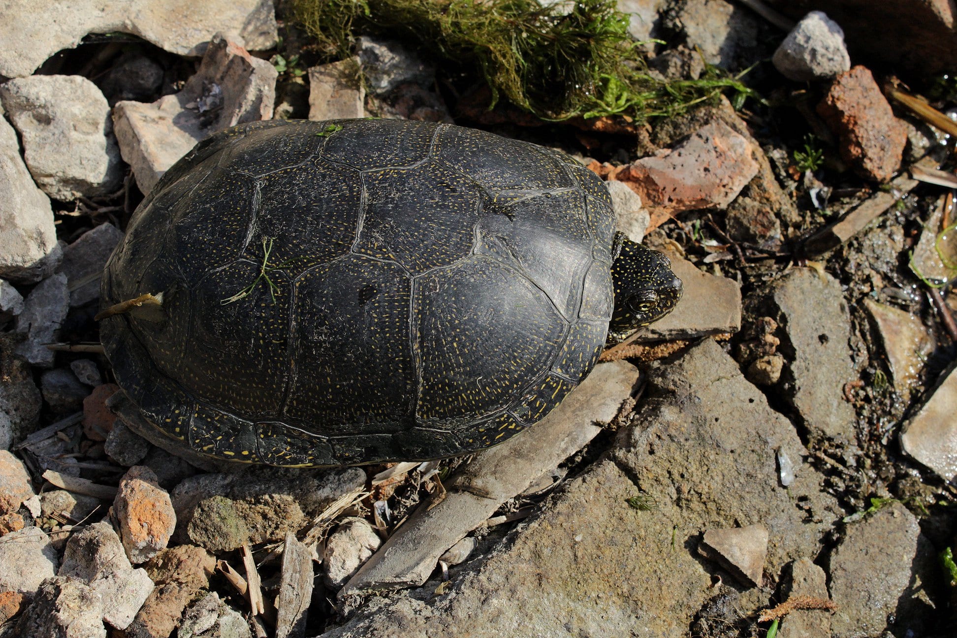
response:
<svg viewBox="0 0 957 638"><path fill-rule="evenodd" d="M678 304L681 280L671 261L618 232L614 237L614 311L609 341L622 341L642 326L661 319Z"/></svg>

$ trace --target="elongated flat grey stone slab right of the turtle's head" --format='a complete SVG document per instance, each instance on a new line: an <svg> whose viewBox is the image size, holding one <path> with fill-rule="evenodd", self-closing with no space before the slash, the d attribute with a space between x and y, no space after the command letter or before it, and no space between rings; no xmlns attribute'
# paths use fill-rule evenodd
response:
<svg viewBox="0 0 957 638"><path fill-rule="evenodd" d="M777 322L793 352L781 375L785 398L812 433L855 446L856 417L843 390L857 373L840 282L809 268L794 269L771 285L767 301L779 313Z"/></svg>

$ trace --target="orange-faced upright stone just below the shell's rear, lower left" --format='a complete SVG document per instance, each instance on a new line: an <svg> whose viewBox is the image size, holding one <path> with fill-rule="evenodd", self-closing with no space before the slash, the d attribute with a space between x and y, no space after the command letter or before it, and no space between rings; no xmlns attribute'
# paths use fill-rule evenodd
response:
<svg viewBox="0 0 957 638"><path fill-rule="evenodd" d="M148 561L165 549L176 527L176 514L167 491L156 483L156 474L133 466L120 479L113 501L126 556L133 564Z"/></svg>

